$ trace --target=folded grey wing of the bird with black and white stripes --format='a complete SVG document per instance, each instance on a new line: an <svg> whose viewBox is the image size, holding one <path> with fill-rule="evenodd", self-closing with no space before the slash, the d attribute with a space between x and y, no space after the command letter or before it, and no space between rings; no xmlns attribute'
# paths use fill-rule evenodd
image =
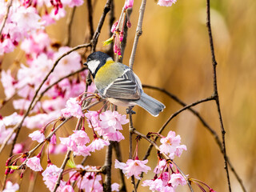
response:
<svg viewBox="0 0 256 192"><path fill-rule="evenodd" d="M137 100L141 97L141 85L138 77L130 69L126 70L110 86L106 87L103 95L106 98Z"/></svg>

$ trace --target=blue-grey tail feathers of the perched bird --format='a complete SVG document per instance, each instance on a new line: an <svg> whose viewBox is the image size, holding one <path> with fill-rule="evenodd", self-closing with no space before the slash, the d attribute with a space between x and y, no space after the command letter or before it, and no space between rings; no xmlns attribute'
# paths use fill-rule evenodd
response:
<svg viewBox="0 0 256 192"><path fill-rule="evenodd" d="M147 110L154 117L157 117L158 114L166 108L162 102L150 97L149 95L142 92L141 98L138 101L135 101L138 106L141 106L144 110Z"/></svg>

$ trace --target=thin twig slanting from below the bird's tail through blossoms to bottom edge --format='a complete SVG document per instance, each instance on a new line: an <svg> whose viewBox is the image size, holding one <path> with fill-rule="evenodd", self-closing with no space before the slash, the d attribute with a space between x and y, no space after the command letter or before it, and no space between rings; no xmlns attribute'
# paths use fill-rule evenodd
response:
<svg viewBox="0 0 256 192"><path fill-rule="evenodd" d="M155 148L156 150L160 151L159 146L158 146L154 141L152 141L150 138L147 138L146 135L141 134L140 132L138 132L138 130L134 130L133 133L139 135L140 137L142 137L142 138L144 138L144 139L146 139L146 141L150 142L150 144L151 144L152 146L154 146L154 148ZM168 155L166 155L166 154L164 154L164 153L161 153L161 154L162 154L163 158L166 159L166 162L170 161L170 162L174 163L174 162L168 157ZM176 163L174 163L174 165L177 167L177 169L178 169L178 171L180 172L180 174L182 174L183 178L186 179L186 184L190 187L190 191L193 192L192 186L190 185L190 182L189 182L189 178L186 177L186 174L184 174L184 173L182 172L182 170L177 166Z"/></svg>

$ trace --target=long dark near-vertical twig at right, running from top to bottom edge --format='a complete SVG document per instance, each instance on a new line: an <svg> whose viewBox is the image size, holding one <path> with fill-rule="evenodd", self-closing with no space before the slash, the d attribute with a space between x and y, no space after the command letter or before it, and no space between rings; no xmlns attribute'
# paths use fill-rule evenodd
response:
<svg viewBox="0 0 256 192"><path fill-rule="evenodd" d="M228 182L229 191L231 192L230 174L229 174L229 169L227 166L227 157L226 157L226 142L225 142L226 131L224 129L224 125L223 125L223 121L222 121L222 113L221 113L221 108L220 108L220 104L219 104L218 87L217 87L217 72L216 72L217 62L216 62L215 54L214 54L214 41L213 41L213 36L212 36L211 26L210 26L210 0L206 0L206 14L207 14L206 26L208 29L208 35L209 35L209 41L210 41L210 53L211 53L213 73L214 73L214 100L216 102L216 106L217 106L217 110L218 110L218 118L219 118L221 130L222 130L222 148L223 148L223 158L224 158L224 165L225 165L224 168L226 170L226 178L227 178L227 182Z"/></svg>

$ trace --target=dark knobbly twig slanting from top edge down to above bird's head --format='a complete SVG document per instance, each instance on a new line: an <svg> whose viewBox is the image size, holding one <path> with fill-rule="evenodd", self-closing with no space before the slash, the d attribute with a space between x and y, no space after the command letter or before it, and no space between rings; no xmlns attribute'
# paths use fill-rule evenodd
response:
<svg viewBox="0 0 256 192"><path fill-rule="evenodd" d="M100 18L100 20L98 22L97 30L94 32L94 37L91 40L91 44L92 44L92 50L91 51L92 52L94 52L96 50L96 45L98 43L98 36L101 33L102 26L103 26L103 23L104 23L105 18L106 18L106 14L110 11L111 2L112 2L112 0L107 0L106 1L106 5L104 7L102 17Z"/></svg>

